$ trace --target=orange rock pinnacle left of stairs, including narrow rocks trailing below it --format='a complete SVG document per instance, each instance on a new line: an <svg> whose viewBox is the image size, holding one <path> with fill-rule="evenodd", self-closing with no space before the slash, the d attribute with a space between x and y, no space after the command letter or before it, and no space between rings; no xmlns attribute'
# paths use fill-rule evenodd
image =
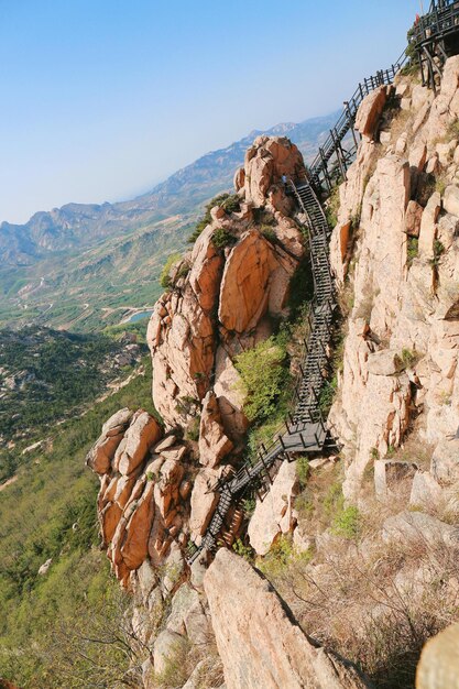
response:
<svg viewBox="0 0 459 689"><path fill-rule="evenodd" d="M212 486L241 451L248 427L234 358L285 317L289 282L304 253L283 174L304 173L287 139L260 136L234 176L233 210L211 222L171 273L173 288L149 325L153 401L166 428L199 428L201 468L192 492L190 536L199 545L214 512Z"/></svg>

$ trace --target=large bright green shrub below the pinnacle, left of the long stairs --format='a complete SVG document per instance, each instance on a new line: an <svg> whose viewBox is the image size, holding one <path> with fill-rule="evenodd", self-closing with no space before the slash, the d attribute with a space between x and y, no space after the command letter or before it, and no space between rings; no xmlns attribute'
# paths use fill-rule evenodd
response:
<svg viewBox="0 0 459 689"><path fill-rule="evenodd" d="M287 353L281 337L270 337L236 358L247 396L244 412L249 420L263 422L277 412L289 383Z"/></svg>

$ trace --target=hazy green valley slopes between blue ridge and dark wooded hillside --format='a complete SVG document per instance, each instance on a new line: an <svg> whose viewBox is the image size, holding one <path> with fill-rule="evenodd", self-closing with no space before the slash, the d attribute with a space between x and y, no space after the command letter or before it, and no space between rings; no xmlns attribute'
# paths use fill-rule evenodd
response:
<svg viewBox="0 0 459 689"><path fill-rule="evenodd" d="M128 308L152 308L163 291L161 270L173 251L185 248L192 227L189 217L176 217L123 231L85 252L31 266L0 265L0 328L34 322L100 331L118 325Z"/></svg>

